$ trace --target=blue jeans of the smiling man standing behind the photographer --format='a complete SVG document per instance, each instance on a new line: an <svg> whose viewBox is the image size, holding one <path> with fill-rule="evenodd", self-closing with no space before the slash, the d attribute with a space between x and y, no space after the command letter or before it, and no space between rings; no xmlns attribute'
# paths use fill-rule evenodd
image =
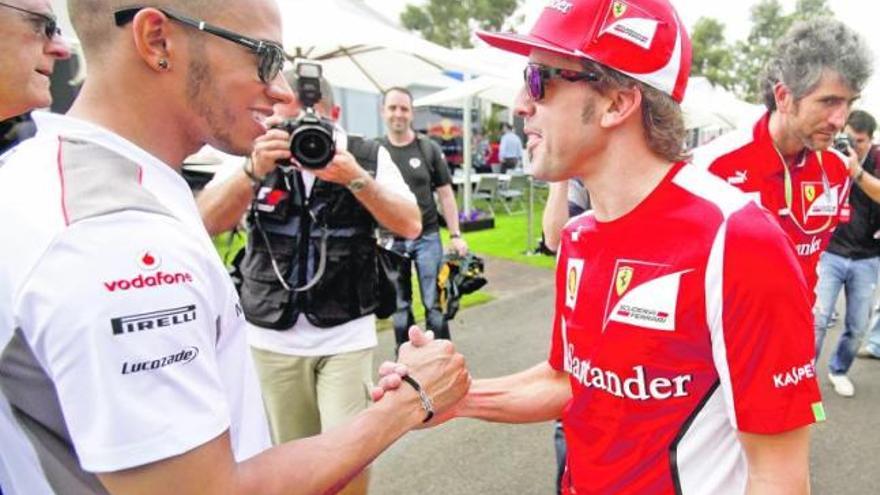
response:
<svg viewBox="0 0 880 495"><path fill-rule="evenodd" d="M423 234L415 240L395 240L393 251L407 255L416 264L419 278L419 293L425 307L425 323L429 330L434 331L438 339L449 339L449 326L437 296L437 275L443 263L443 245L440 233ZM412 263L403 263L400 277L397 279L397 311L391 316L394 324L394 337L400 347L409 340L409 327L415 324L412 312Z"/></svg>

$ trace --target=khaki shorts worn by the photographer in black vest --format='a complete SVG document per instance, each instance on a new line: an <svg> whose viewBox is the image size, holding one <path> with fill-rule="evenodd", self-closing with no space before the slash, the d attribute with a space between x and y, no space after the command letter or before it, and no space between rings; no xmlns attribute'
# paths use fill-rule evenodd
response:
<svg viewBox="0 0 880 495"><path fill-rule="evenodd" d="M373 349L333 356L251 351L276 445L327 431L370 405Z"/></svg>

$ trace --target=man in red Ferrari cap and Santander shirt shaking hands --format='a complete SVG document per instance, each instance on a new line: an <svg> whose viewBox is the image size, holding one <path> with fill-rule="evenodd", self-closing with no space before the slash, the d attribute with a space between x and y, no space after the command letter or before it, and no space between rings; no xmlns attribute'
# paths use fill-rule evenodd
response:
<svg viewBox="0 0 880 495"><path fill-rule="evenodd" d="M773 219L682 161L691 48L668 0L556 0L530 35L479 36L529 56L535 175L581 178L593 211L562 231L549 359L454 415L561 416L564 493L808 493L806 285Z"/></svg>

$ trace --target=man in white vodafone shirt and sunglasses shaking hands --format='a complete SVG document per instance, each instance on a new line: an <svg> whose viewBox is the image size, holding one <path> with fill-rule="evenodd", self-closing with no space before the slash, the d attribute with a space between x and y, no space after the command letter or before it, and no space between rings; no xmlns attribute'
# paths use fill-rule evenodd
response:
<svg viewBox="0 0 880 495"><path fill-rule="evenodd" d="M238 297L179 164L205 143L247 154L291 98L280 14L153 4L69 2L88 80L0 168L0 228L16 233L0 247L0 383L60 493L332 491L422 422L425 391L438 411L461 397L463 360L448 342L406 348L421 396L388 392L268 449Z"/></svg>

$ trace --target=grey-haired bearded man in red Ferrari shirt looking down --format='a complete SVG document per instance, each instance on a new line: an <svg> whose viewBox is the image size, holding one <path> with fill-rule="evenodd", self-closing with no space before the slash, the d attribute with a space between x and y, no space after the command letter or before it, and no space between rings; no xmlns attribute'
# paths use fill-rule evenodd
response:
<svg viewBox="0 0 880 495"><path fill-rule="evenodd" d="M851 215L849 188L855 182L877 189L852 150L845 156L831 148L871 71L864 40L841 22L795 24L761 81L767 113L753 128L694 151L695 165L754 198L782 226L795 245L811 302L819 255L838 222Z"/></svg>

